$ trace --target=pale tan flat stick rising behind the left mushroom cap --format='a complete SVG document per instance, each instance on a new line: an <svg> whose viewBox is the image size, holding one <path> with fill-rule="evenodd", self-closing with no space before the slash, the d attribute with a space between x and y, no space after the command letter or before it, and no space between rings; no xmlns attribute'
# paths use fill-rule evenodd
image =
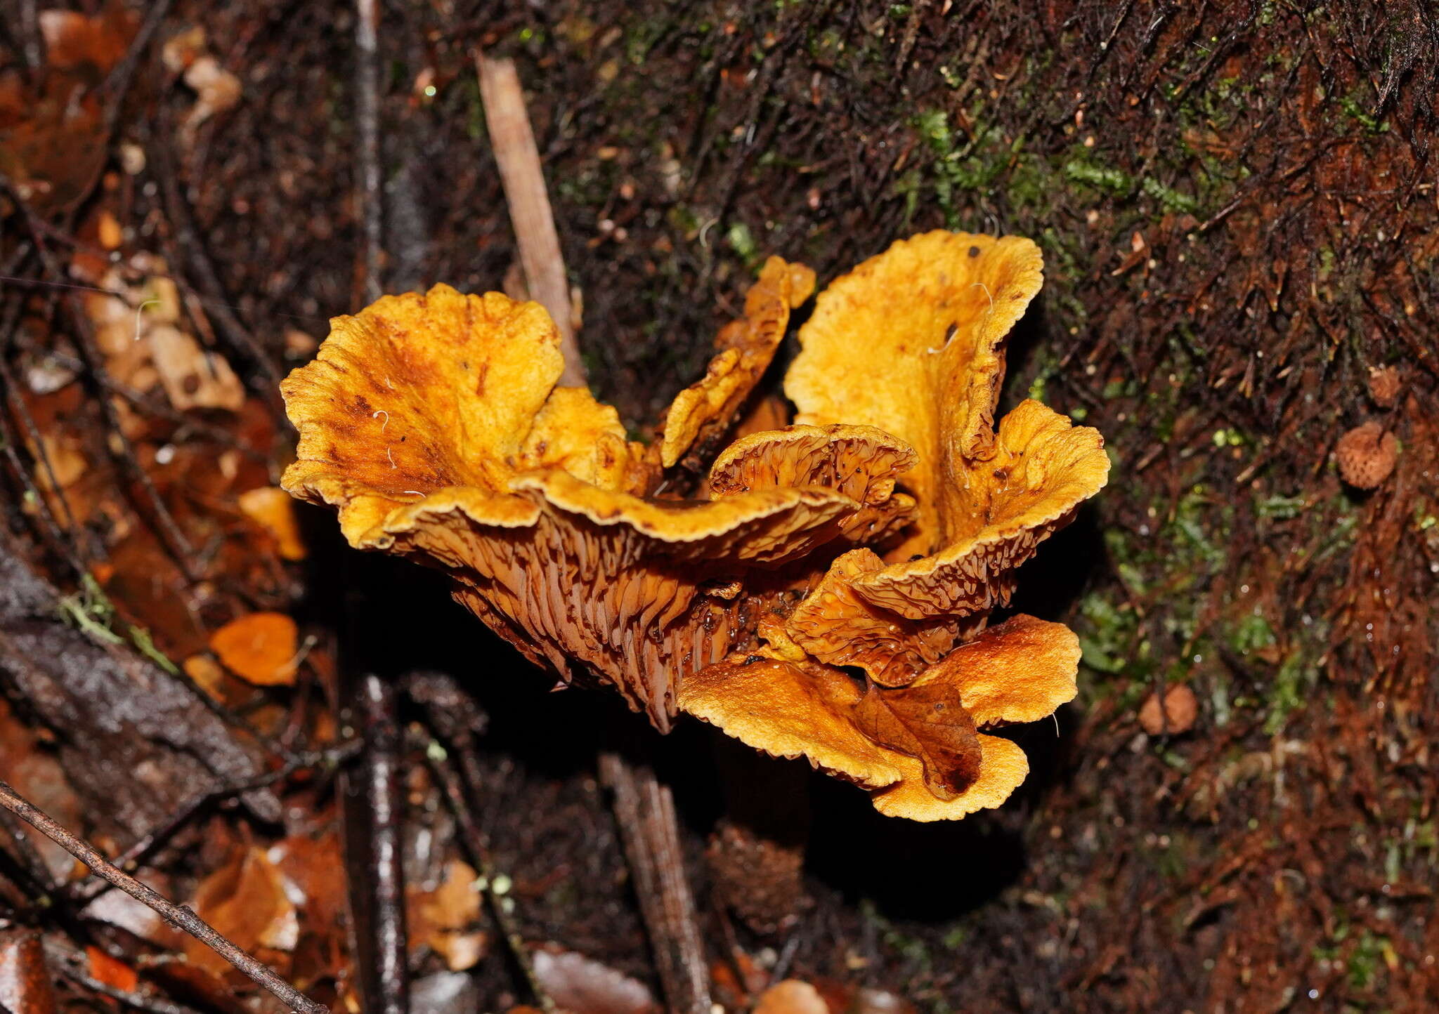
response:
<svg viewBox="0 0 1439 1014"><path fill-rule="evenodd" d="M479 72L479 96L485 104L485 124L489 144L499 164L499 180L509 204L509 221L519 245L519 263L525 269L530 295L550 311L560 328L560 351L564 352L564 373L560 383L584 387L584 364L570 315L570 279L560 252L560 234L554 227L550 196L540 168L540 148L530 129L525 96L519 88L519 73L514 60L475 55Z"/></svg>

